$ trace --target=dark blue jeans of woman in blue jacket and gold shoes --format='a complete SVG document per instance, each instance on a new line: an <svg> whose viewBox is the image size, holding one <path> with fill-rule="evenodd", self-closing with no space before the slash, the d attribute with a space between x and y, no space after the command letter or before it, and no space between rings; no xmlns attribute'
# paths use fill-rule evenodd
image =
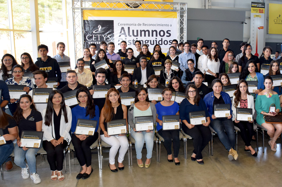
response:
<svg viewBox="0 0 282 187"><path fill-rule="evenodd" d="M218 138L225 146L225 149L228 151L231 149L231 147L235 149L236 137L234 132L234 124L231 119L217 118L210 122L210 126L218 134Z"/></svg>

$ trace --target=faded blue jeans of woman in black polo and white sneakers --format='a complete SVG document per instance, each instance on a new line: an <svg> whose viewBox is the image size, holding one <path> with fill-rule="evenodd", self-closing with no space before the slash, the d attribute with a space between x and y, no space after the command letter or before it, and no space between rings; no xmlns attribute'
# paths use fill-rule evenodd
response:
<svg viewBox="0 0 282 187"><path fill-rule="evenodd" d="M42 144L41 144L42 146ZM40 148L39 148L40 149ZM24 161L26 159L30 173L36 173L36 158L35 154L39 149L35 148L29 148L26 151L23 150L22 147L19 147L18 145L15 145L15 158L14 163L23 168L26 168L26 162Z"/></svg>

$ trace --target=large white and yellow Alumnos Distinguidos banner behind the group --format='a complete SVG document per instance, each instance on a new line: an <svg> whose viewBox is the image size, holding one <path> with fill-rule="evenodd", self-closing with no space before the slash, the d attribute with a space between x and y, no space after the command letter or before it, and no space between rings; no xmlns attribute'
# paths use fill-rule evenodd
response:
<svg viewBox="0 0 282 187"><path fill-rule="evenodd" d="M159 44L166 53L178 36L176 12L84 10L83 23L84 47L114 42L117 51L126 41L127 48L135 49L134 42L140 40L151 52Z"/></svg>

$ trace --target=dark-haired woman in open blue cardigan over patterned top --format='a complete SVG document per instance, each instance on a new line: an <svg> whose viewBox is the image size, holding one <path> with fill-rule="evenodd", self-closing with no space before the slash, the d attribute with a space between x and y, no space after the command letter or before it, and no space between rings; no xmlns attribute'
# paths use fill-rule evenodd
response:
<svg viewBox="0 0 282 187"><path fill-rule="evenodd" d="M258 72L258 67L255 60L249 60L247 62L245 68L242 70L242 73L239 76L239 79L244 79L246 81L258 81L258 89L254 93L251 93L251 95L254 97L254 102L256 102L256 97L258 93L264 89L264 85L263 74Z"/></svg>

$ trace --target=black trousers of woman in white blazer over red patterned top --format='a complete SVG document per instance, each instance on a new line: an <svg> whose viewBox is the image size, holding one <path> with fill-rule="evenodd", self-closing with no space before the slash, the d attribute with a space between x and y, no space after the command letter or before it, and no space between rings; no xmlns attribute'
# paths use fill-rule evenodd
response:
<svg viewBox="0 0 282 187"><path fill-rule="evenodd" d="M235 123L235 121L233 121L233 124L240 129L240 134L243 141L245 142L245 146L251 146L251 140L254 131L253 123L241 122L241 121L239 123Z"/></svg>

